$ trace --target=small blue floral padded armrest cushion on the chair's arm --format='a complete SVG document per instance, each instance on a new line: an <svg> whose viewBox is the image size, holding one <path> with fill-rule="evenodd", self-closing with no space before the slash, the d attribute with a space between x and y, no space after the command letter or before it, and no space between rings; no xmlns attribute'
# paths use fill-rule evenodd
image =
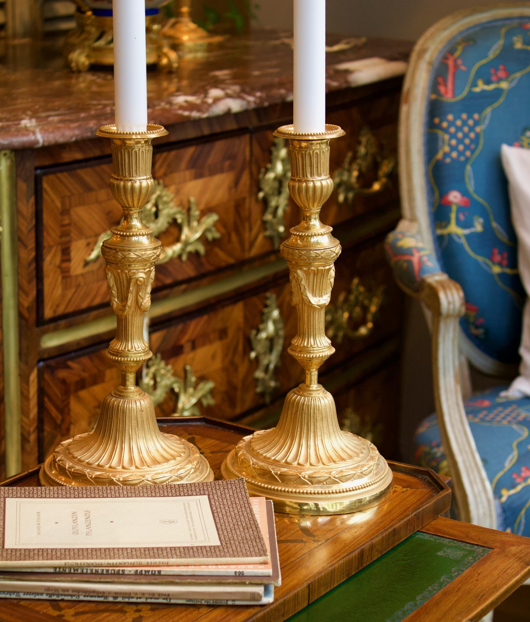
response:
<svg viewBox="0 0 530 622"><path fill-rule="evenodd" d="M395 230L385 239L385 254L394 276L405 287L417 292L421 279L441 272L438 261L416 236Z"/></svg>

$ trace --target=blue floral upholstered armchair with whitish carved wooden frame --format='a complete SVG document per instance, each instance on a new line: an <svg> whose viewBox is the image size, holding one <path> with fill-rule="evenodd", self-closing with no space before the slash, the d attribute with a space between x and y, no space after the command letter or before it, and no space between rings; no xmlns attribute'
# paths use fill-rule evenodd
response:
<svg viewBox="0 0 530 622"><path fill-rule="evenodd" d="M387 256L433 341L436 414L416 458L452 476L462 520L530 536L530 398L506 398L508 384L472 394L468 368L517 375L525 293L500 148L530 148L530 4L460 11L421 37L399 142Z"/></svg>

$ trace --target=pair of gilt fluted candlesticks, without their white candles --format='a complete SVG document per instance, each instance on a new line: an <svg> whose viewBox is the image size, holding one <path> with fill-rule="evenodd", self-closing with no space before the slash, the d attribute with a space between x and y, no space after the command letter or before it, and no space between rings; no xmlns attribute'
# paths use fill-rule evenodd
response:
<svg viewBox="0 0 530 622"><path fill-rule="evenodd" d="M141 221L141 208L153 192L153 138L146 132L119 132L104 126L99 136L112 141L112 194L124 219L103 243L110 304L117 334L107 356L122 372L122 383L102 404L93 432L61 443L44 463L40 482L49 486L174 484L212 480L199 450L156 424L151 397L135 383L135 374L151 356L142 335L142 316L150 307L151 285L161 244ZM335 349L325 335L325 309L341 252L331 227L320 222L330 197L330 139L343 136L327 125L320 134L297 134L292 126L275 135L289 141L289 192L303 220L281 246L297 309L298 332L290 355L305 370L305 381L289 392L277 426L242 439L222 466L225 478L244 477L250 494L274 501L277 511L299 514L353 512L379 503L390 491L392 471L377 448L339 428L335 402L318 384L318 368Z"/></svg>

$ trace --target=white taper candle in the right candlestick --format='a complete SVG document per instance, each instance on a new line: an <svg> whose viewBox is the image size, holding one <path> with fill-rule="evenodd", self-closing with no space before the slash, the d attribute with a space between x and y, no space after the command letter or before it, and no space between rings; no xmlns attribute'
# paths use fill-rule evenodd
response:
<svg viewBox="0 0 530 622"><path fill-rule="evenodd" d="M294 131L325 131L326 0L294 0Z"/></svg>

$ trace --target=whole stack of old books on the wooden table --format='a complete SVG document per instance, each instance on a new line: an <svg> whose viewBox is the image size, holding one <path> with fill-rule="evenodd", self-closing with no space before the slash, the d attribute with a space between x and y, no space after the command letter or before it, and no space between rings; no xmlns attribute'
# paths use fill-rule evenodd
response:
<svg viewBox="0 0 530 622"><path fill-rule="evenodd" d="M244 480L0 488L0 597L264 605L272 501Z"/></svg>

